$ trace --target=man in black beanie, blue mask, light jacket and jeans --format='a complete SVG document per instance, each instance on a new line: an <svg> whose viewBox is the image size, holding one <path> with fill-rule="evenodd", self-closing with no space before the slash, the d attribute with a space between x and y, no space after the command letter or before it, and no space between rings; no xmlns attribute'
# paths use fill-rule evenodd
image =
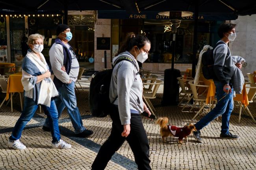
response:
<svg viewBox="0 0 256 170"><path fill-rule="evenodd" d="M78 137L87 137L93 134L92 130L87 130L83 126L82 118L76 106L75 82L79 72L79 63L76 53L69 45L72 33L69 26L59 24L56 29L57 38L49 51L50 63L54 72L54 84L59 92L55 99L58 109L58 118L66 107L70 120L74 127L74 132ZM65 66L65 71L61 68ZM49 120L46 118L43 130L50 131Z"/></svg>

